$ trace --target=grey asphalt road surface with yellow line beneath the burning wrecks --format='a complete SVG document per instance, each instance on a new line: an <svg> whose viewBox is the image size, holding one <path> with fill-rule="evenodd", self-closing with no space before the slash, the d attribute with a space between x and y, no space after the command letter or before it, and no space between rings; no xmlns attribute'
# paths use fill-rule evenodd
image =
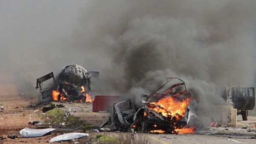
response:
<svg viewBox="0 0 256 144"><path fill-rule="evenodd" d="M102 122L108 119L108 113L92 112L91 103L75 102L64 105L67 107L63 109L70 108L74 115L95 126L100 126ZM255 116L248 116L248 121L243 121L241 116L237 116L237 127L212 127L198 130L195 134L143 134L143 136L151 144L256 144L256 139L251 138L256 136L256 128L242 129L242 127L246 127L246 124L254 123L256 123ZM248 132L249 129L255 131ZM135 134L135 138L139 137L141 134Z"/></svg>

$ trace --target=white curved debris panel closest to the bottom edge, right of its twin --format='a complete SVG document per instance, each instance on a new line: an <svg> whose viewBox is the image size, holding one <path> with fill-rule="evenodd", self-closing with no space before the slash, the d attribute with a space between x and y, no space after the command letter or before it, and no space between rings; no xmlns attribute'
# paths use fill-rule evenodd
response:
<svg viewBox="0 0 256 144"><path fill-rule="evenodd" d="M89 134L88 133L66 133L66 134L51 138L49 142L68 141L76 138L82 138L85 136L89 136Z"/></svg>

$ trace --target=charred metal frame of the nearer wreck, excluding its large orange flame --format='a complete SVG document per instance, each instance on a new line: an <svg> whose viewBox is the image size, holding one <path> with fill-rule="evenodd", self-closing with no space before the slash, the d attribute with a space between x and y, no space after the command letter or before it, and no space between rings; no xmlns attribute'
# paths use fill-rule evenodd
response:
<svg viewBox="0 0 256 144"><path fill-rule="evenodd" d="M180 83L170 86L164 90L163 93L159 93L159 91L172 79L178 79ZM184 89L180 92L175 91L175 88L177 89L180 86L183 86ZM145 101L142 101L144 106L136 112L133 107L130 107L130 109L123 112L119 110L118 105L123 104L124 102L129 102L130 105L133 105L131 100L113 104L113 107L109 108L109 120L102 124L100 128L105 127L105 125L111 125L111 130L128 130L128 128L134 128L136 131L143 132L158 132L158 130L161 130L165 133L177 134L179 132L175 129L182 129L183 127L186 127L192 114L190 112L190 108L187 106L187 97L184 96L186 93L187 90L185 82L179 78L168 78L167 82L163 86L161 86L155 93L148 95ZM159 100L166 96L174 97L180 101L186 101L183 116L179 114L175 114L175 116L163 116L162 113L153 109L157 107L165 110L163 106L159 104L152 104L151 101L152 99Z"/></svg>

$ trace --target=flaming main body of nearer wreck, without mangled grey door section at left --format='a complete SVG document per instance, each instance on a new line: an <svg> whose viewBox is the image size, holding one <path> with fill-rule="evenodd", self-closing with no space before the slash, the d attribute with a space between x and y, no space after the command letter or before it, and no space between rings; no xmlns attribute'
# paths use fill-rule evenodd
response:
<svg viewBox="0 0 256 144"><path fill-rule="evenodd" d="M167 85L176 79L179 83ZM178 78L168 78L155 93L147 96L145 104L134 115L132 127L151 133L192 133L189 124L191 112L186 96L185 82Z"/></svg>

